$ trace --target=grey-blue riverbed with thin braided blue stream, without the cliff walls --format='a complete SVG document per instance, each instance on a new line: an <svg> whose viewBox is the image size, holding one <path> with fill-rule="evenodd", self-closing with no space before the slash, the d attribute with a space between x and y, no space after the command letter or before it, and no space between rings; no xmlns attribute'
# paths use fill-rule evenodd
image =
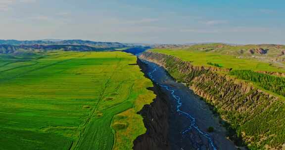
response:
<svg viewBox="0 0 285 150"><path fill-rule="evenodd" d="M236 150L226 138L226 130L204 101L187 86L176 82L162 67L142 60L147 76L162 91L170 107L169 144L171 150ZM208 133L208 127L215 131Z"/></svg>

